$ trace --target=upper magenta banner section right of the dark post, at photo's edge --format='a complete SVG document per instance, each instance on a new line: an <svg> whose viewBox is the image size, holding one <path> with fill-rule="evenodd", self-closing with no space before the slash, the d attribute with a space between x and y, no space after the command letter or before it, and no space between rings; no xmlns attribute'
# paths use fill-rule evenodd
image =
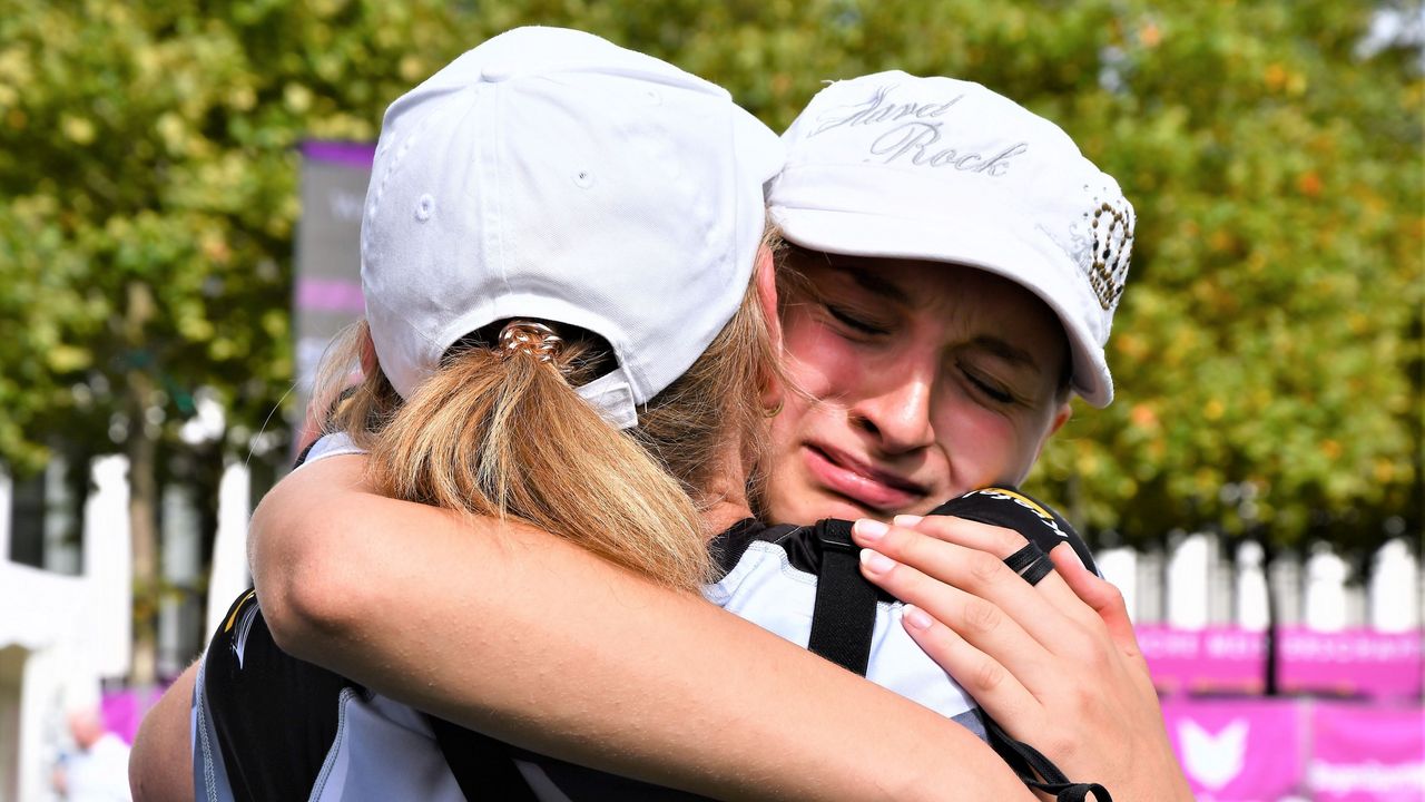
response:
<svg viewBox="0 0 1425 802"><path fill-rule="evenodd" d="M1278 678L1282 691L1365 696L1419 696L1425 664L1421 634L1284 628Z"/></svg>

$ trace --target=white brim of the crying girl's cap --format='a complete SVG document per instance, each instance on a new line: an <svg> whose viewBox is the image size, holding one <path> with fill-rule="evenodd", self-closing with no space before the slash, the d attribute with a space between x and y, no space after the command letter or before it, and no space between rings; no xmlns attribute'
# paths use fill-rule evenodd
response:
<svg viewBox="0 0 1425 802"><path fill-rule="evenodd" d="M1113 401L1113 378L1103 348L1074 314L1073 300L1083 295L1077 277L1064 275L1062 253L1046 254L989 215L962 215L955 224L940 220L906 220L861 211L771 207L772 221L797 245L856 257L912 258L963 264L1002 275L1023 285L1059 315L1073 358L1074 392L1094 407ZM1043 247L1054 247L1043 235ZM1067 300L1067 303L1066 303Z"/></svg>

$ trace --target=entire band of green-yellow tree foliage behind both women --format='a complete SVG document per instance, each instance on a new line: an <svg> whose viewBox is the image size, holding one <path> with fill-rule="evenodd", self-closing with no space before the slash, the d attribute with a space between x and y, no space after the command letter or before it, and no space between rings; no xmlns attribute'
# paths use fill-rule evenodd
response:
<svg viewBox="0 0 1425 802"><path fill-rule="evenodd" d="M292 370L294 146L370 140L462 50L569 24L774 127L821 80L882 68L1056 120L1140 224L1119 400L1050 445L1046 495L1130 541L1418 532L1425 90L1418 44L1362 50L1371 19L1328 0L0 0L0 455L105 438L133 370L165 425L200 387L261 425Z"/></svg>

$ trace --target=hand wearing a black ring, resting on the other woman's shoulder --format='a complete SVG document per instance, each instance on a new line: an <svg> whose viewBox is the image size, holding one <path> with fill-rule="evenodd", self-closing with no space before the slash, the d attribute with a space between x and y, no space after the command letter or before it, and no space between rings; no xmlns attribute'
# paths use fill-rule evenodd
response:
<svg viewBox="0 0 1425 802"><path fill-rule="evenodd" d="M1005 564L1026 542L1012 529L901 522L911 525L856 525L856 542L874 549L864 574L915 605L903 616L911 636L986 712L1114 799L1191 799L1117 588L1064 545L1032 587Z"/></svg>

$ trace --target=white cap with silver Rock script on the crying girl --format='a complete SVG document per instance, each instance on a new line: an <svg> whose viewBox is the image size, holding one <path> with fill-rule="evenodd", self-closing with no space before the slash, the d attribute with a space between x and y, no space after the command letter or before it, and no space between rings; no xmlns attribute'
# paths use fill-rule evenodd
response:
<svg viewBox="0 0 1425 802"><path fill-rule="evenodd" d="M889 71L832 83L782 138L787 167L768 204L787 240L1023 284L1063 323L1073 390L1113 401L1103 347L1133 205L1059 126L975 83Z"/></svg>

